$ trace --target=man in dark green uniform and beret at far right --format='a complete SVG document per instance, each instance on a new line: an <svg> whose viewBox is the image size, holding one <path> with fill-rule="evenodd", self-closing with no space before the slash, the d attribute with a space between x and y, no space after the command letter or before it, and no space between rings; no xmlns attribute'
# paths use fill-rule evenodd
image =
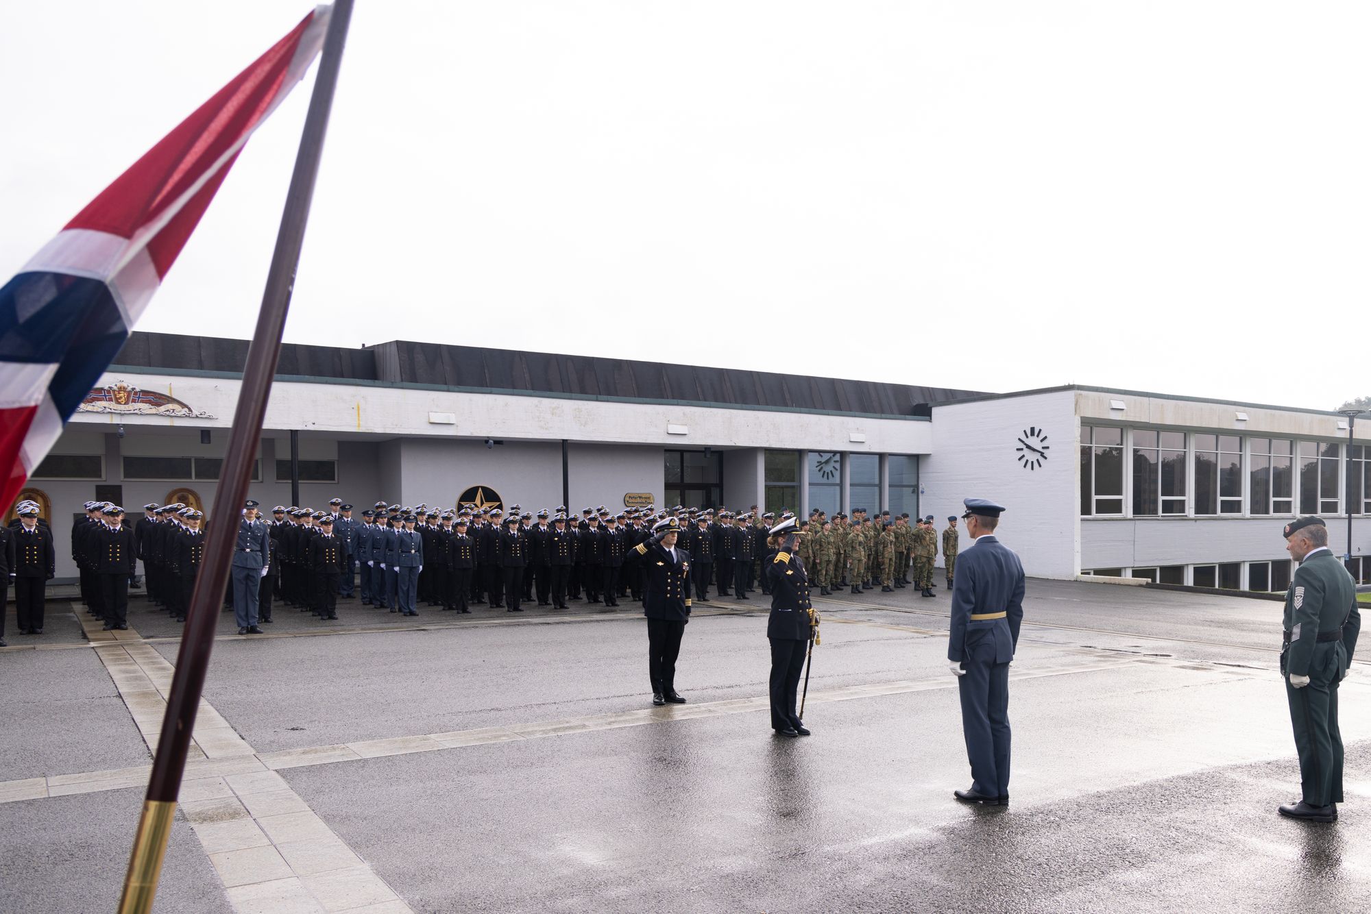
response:
<svg viewBox="0 0 1371 914"><path fill-rule="evenodd" d="M1342 802L1338 684L1348 674L1361 630L1357 588L1328 551L1328 528L1322 518L1296 518L1282 533L1286 551L1300 563L1286 591L1281 674L1286 677L1302 796L1282 806L1281 815L1335 822Z"/></svg>

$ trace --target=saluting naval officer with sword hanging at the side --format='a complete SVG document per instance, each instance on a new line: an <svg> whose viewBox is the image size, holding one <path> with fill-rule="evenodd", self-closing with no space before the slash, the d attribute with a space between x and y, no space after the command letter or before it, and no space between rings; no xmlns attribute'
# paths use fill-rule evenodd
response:
<svg viewBox="0 0 1371 914"><path fill-rule="evenodd" d="M809 571L797 554L801 536L795 518L790 517L771 529L765 543L768 554L775 551L762 577L772 597L766 640L772 647L772 729L779 736L809 736L795 710L799 676L805 670L805 648L816 623L809 602Z"/></svg>

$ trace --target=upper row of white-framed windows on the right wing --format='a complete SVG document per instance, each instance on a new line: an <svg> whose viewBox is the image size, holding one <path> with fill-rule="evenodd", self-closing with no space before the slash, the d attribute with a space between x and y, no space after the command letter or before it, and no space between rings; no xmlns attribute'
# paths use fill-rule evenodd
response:
<svg viewBox="0 0 1371 914"><path fill-rule="evenodd" d="M1371 447L1080 428L1082 517L1327 515L1344 504L1371 514Z"/></svg>

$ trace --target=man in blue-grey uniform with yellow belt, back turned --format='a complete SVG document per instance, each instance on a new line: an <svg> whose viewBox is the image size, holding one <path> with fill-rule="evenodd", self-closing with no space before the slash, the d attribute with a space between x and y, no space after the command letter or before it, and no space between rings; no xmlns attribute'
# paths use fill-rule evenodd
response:
<svg viewBox="0 0 1371 914"><path fill-rule="evenodd" d="M972 784L953 795L964 803L1009 806L1009 662L1024 618L1024 569L994 536L1005 508L984 499L964 504L971 547L958 556L953 577L947 660L958 677Z"/></svg>

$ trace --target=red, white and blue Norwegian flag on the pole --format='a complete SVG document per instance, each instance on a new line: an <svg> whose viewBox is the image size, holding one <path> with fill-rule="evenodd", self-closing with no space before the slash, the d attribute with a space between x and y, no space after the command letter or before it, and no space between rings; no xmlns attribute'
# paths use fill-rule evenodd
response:
<svg viewBox="0 0 1371 914"><path fill-rule="evenodd" d="M318 55L332 11L304 16L0 288L0 506L118 355L243 145Z"/></svg>

